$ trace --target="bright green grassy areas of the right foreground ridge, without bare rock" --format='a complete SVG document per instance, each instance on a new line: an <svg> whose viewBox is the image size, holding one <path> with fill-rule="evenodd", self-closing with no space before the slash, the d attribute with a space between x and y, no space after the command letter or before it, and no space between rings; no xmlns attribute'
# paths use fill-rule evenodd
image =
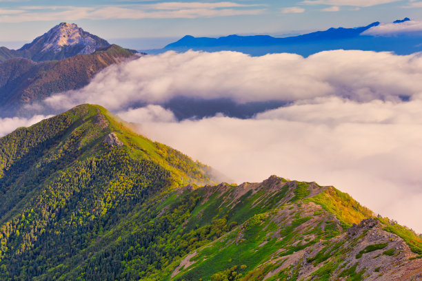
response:
<svg viewBox="0 0 422 281"><path fill-rule="evenodd" d="M181 233L195 233L205 225L217 225L219 220L225 220L226 224L235 221L237 226L220 236L214 236L212 241L197 244L187 256L153 275L154 278L225 280L230 275L238 278L230 280L262 280L274 269L282 267L285 261L283 257L320 245L316 248L318 251L310 253L308 258L314 267L312 274L318 280L328 280L342 274L356 278L353 280L361 280L363 271L356 272L356 264L353 267L354 264L344 264L343 260L345 256L350 256L363 236L345 240L341 234L352 223L371 217L372 211L333 187L321 187L318 194L298 199L299 194L310 193L303 192L305 187L310 186L309 183L284 183L283 179L278 178L270 184L276 189L269 191L268 185L264 182L257 189L250 189L237 204L233 204L231 199L236 197L234 194L238 187L225 186L224 192L216 188L212 194L205 196L192 210L190 218L185 220L184 227L172 234L173 237L183 238ZM209 193L201 190L197 192ZM402 234L395 233L404 238ZM417 240L417 236L411 233L407 233L412 236L410 240ZM200 236L191 236L194 237L191 241L201 239ZM382 245L383 249L388 242ZM378 244L370 245L362 252L375 251L378 249L376 246ZM177 267L177 264L187 265ZM297 278L299 270L300 267L296 265L284 267L269 280L296 280L294 276Z"/></svg>

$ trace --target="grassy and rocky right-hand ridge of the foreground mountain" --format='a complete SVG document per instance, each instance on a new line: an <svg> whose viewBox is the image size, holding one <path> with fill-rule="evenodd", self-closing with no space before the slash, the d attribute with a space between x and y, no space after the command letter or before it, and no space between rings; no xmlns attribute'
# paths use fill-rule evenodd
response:
<svg viewBox="0 0 422 281"><path fill-rule="evenodd" d="M421 239L372 218L370 210L334 187L272 176L194 194L202 194L201 200L183 223L192 249L157 280L421 278ZM405 231L401 236L408 244L392 229ZM214 240L202 240L208 231Z"/></svg>

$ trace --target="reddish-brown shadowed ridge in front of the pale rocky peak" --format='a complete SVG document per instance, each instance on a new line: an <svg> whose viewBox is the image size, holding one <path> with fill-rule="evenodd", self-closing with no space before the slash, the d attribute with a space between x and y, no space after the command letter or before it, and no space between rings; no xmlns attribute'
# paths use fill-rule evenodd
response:
<svg viewBox="0 0 422 281"><path fill-rule="evenodd" d="M16 116L17 112L31 114L28 109L22 109L23 105L54 93L79 89L100 70L132 55L128 50L110 45L93 54L79 54L61 61L36 63L15 58L0 63L0 116Z"/></svg>

